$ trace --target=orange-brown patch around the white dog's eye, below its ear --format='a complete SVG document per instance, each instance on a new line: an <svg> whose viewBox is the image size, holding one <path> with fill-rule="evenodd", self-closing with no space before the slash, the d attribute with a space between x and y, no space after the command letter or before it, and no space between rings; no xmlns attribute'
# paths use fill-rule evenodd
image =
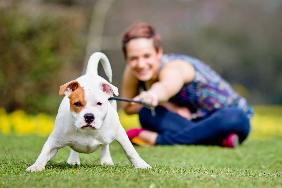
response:
<svg viewBox="0 0 282 188"><path fill-rule="evenodd" d="M83 87L78 87L70 95L70 110L78 114L86 105L84 98L84 89ZM74 105L75 103L80 103L80 106Z"/></svg>

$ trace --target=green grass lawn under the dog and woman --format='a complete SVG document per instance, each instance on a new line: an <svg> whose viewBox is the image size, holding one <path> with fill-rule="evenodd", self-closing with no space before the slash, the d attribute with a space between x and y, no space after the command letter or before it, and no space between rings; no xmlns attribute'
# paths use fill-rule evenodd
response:
<svg viewBox="0 0 282 188"><path fill-rule="evenodd" d="M100 150L66 164L60 149L43 172L26 172L47 137L0 134L0 187L282 187L282 138L246 140L236 149L218 146L135 146L152 169L134 169L111 143L115 166L100 165Z"/></svg>

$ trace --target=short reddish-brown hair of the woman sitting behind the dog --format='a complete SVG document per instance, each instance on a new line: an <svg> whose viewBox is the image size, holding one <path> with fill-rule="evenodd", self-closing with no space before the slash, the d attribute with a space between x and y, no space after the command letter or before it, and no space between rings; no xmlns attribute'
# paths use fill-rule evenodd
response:
<svg viewBox="0 0 282 188"><path fill-rule="evenodd" d="M122 35L122 51L124 53L124 57L126 59L126 45L131 39L136 38L153 38L154 47L156 51L161 48L161 39L159 34L155 33L155 30L153 26L143 23L143 22L137 22L127 28Z"/></svg>

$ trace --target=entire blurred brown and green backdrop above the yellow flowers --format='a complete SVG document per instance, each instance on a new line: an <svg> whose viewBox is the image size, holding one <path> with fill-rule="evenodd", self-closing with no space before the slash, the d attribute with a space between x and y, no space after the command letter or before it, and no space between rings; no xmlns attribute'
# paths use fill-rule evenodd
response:
<svg viewBox="0 0 282 188"><path fill-rule="evenodd" d="M281 20L281 0L1 0L0 108L55 115L60 86L96 51L120 89L121 34L136 21L155 26L164 53L201 59L250 104L281 105Z"/></svg>

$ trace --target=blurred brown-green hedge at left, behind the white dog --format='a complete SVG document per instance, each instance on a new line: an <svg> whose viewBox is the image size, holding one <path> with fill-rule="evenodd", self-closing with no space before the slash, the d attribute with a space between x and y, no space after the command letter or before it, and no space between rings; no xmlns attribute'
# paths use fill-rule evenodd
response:
<svg viewBox="0 0 282 188"><path fill-rule="evenodd" d="M21 3L0 8L0 96L7 111L56 113L60 85L77 78L83 62L86 20L77 12Z"/></svg>

